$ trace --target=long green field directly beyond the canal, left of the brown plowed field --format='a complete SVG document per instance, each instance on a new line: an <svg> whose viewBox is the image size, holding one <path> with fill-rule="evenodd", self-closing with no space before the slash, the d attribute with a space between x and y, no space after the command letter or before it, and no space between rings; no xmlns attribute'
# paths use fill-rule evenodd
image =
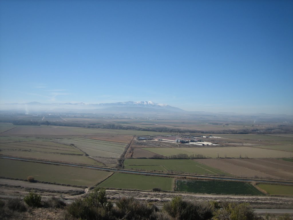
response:
<svg viewBox="0 0 293 220"><path fill-rule="evenodd" d="M189 159L126 159L125 169L196 173L202 175L229 175L221 170Z"/></svg>

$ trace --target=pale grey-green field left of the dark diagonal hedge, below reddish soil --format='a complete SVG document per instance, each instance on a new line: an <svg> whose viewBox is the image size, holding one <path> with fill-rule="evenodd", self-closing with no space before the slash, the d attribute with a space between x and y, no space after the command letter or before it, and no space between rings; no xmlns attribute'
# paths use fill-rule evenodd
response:
<svg viewBox="0 0 293 220"><path fill-rule="evenodd" d="M126 146L125 143L100 141L90 138L71 138L58 142L74 144L77 148L94 157L119 158Z"/></svg>

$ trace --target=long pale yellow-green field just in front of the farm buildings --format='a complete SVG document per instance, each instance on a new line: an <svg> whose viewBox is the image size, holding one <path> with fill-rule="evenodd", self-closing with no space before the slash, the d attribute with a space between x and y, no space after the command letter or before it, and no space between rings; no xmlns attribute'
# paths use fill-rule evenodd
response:
<svg viewBox="0 0 293 220"><path fill-rule="evenodd" d="M190 147L190 148L144 148L153 153L171 156L176 154L202 154L209 158L288 158L288 152L253 147Z"/></svg>

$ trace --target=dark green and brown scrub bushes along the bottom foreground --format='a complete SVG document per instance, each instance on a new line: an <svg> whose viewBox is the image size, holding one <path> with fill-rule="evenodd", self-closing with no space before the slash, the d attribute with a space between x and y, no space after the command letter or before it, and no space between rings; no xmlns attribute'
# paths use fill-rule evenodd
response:
<svg viewBox="0 0 293 220"><path fill-rule="evenodd" d="M94 188L88 197L78 198L66 207L59 198L52 197L45 202L40 199L40 195L31 192L23 201L20 198L0 200L0 219L17 219L27 210L45 207L62 210L58 217L62 220L263 220L262 217L255 216L248 203L201 202L182 197L165 202L162 209L134 197L120 197L114 207L113 203L108 201L105 189L101 187ZM274 219L292 218L284 216Z"/></svg>

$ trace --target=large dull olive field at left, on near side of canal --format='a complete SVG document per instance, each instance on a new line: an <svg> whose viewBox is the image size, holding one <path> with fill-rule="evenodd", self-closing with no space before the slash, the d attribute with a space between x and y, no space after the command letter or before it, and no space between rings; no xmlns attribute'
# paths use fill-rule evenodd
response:
<svg viewBox="0 0 293 220"><path fill-rule="evenodd" d="M0 169L1 177L27 179L33 176L39 181L81 186L93 186L111 175L111 172L100 170L8 159L0 159L0 166L9 167Z"/></svg>

